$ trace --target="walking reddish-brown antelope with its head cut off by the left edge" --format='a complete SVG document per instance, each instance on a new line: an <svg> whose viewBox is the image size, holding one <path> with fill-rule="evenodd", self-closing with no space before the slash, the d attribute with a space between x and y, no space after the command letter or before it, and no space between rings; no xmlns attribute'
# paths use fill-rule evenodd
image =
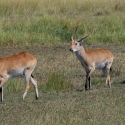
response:
<svg viewBox="0 0 125 125"><path fill-rule="evenodd" d="M30 88L30 82L34 85L36 99L38 100L37 81L32 76L36 67L37 59L28 52L20 52L7 57L0 58L0 97L3 101L3 85L11 78L25 76L26 90L23 94L23 100Z"/></svg>

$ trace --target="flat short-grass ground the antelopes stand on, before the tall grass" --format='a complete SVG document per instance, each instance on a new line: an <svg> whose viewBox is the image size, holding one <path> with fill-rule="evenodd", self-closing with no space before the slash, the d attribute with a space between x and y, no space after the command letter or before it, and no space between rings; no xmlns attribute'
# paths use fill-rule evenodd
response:
<svg viewBox="0 0 125 125"><path fill-rule="evenodd" d="M92 74L90 91L79 91L84 87L85 71L69 47L67 44L0 48L0 56L24 50L35 55L38 65L33 75L39 87L38 101L35 100L32 86L22 101L24 79L9 80L4 86L4 102L0 104L0 125L125 124L125 46L85 45L86 49L107 48L115 56L111 73L112 88L105 87L102 71L96 70ZM65 81L71 87L58 91L43 89L49 74L58 72L65 76ZM19 84L19 88L11 90L13 83Z"/></svg>

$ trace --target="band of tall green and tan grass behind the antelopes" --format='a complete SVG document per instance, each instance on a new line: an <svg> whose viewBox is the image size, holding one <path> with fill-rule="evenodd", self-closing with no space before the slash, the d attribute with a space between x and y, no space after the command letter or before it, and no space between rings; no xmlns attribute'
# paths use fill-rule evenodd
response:
<svg viewBox="0 0 125 125"><path fill-rule="evenodd" d="M70 41L76 26L87 43L125 42L123 0L1 0L0 44L59 44Z"/></svg>

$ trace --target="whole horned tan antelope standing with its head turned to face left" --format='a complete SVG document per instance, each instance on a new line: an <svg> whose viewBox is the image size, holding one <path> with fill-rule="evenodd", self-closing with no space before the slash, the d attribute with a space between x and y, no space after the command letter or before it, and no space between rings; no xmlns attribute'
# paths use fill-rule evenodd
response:
<svg viewBox="0 0 125 125"><path fill-rule="evenodd" d="M111 88L110 83L110 70L113 63L114 56L107 49L93 49L85 50L82 46L83 41L90 35L90 31L86 36L74 40L77 28L71 37L71 48L70 51L75 52L78 60L81 62L82 67L86 71L86 82L85 90L91 89L91 79L90 76L95 69L101 69L106 76L106 85L108 84Z"/></svg>

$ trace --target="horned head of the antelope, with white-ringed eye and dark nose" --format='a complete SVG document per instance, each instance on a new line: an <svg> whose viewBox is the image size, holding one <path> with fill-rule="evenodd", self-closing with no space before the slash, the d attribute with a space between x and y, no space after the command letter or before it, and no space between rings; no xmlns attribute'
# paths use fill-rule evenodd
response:
<svg viewBox="0 0 125 125"><path fill-rule="evenodd" d="M71 42L70 51L72 51L72 52L79 51L81 49L81 47L82 47L82 42L84 41L84 39L86 39L90 35L90 32L89 32L86 36L83 36L82 38L74 40L74 36L76 34L77 28L78 27L76 27L76 29L75 29L72 37L71 37L72 42Z"/></svg>

